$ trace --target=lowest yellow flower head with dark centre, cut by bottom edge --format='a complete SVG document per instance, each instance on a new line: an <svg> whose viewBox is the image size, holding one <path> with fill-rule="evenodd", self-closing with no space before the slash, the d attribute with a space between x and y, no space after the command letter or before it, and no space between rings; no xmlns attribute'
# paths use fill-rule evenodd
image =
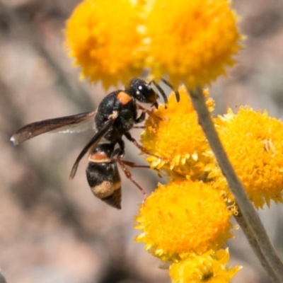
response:
<svg viewBox="0 0 283 283"><path fill-rule="evenodd" d="M241 267L229 267L228 262L228 249L180 260L170 267L172 283L229 283Z"/></svg>

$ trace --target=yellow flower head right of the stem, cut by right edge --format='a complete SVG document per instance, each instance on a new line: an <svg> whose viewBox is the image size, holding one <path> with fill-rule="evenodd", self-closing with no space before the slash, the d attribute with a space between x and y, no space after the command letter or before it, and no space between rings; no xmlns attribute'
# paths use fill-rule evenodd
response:
<svg viewBox="0 0 283 283"><path fill-rule="evenodd" d="M283 123L267 112L241 108L215 120L220 139L255 207L283 202ZM214 177L216 171L212 172ZM211 176L212 177L212 176ZM217 179L217 178L216 178ZM216 185L227 186L218 169Z"/></svg>

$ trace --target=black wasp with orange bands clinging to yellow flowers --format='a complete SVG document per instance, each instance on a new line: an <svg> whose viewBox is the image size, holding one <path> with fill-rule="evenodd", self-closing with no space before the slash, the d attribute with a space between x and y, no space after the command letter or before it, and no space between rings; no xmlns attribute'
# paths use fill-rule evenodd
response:
<svg viewBox="0 0 283 283"><path fill-rule="evenodd" d="M168 81L164 79L162 81L173 89ZM117 163L120 163L130 180L132 177L125 165L136 167L134 163L121 159L125 154L125 142L122 137L125 136L145 154L150 154L132 137L129 130L135 124L143 122L146 113L152 115L151 111L146 110L138 103L150 103L151 106L158 108L158 93L167 103L166 93L156 82L146 83L143 79L132 79L125 90L113 91L105 96L96 111L33 122L18 129L11 137L11 141L14 145L18 145L46 132L78 132L83 129L95 128L96 134L76 158L69 178L74 178L81 158L88 153L89 163L86 168L86 178L93 194L111 206L120 209L121 182ZM175 91L175 96L179 101L178 91ZM141 110L140 115L138 114L139 110ZM100 143L102 139L105 142ZM132 182L145 195L144 190L134 180Z"/></svg>

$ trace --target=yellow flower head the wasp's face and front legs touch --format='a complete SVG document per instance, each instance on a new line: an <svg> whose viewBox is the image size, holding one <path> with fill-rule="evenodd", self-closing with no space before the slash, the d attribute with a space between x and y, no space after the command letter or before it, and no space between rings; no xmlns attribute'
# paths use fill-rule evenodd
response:
<svg viewBox="0 0 283 283"><path fill-rule="evenodd" d="M146 120L146 129L141 133L141 142L154 156L146 161L151 168L163 169L172 177L204 179L205 168L214 162L207 139L197 122L197 113L184 86L179 88L180 102L171 94L168 104L160 105L154 116ZM207 91L204 91L207 96ZM207 98L207 107L214 107L214 101ZM158 119L162 118L161 119ZM160 158L158 158L158 157Z"/></svg>

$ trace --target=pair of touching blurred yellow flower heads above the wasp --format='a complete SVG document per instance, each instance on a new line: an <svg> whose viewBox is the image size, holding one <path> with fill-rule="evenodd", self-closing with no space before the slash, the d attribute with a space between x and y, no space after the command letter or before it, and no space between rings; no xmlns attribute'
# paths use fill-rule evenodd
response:
<svg viewBox="0 0 283 283"><path fill-rule="evenodd" d="M105 86L144 71L156 80L167 74L174 86L208 84L235 64L241 48L230 4L84 0L67 21L66 46L82 76Z"/></svg>

